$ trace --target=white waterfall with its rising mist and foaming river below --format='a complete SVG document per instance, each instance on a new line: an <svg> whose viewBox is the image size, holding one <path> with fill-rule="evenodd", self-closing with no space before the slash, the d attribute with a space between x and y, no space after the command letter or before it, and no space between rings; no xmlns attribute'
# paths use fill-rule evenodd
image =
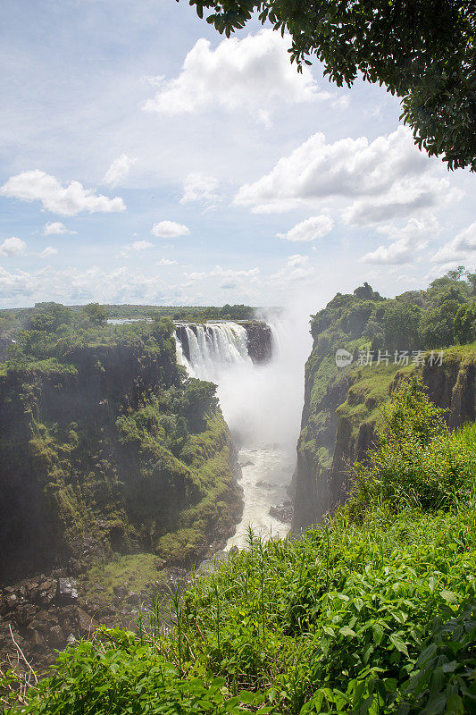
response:
<svg viewBox="0 0 476 715"><path fill-rule="evenodd" d="M303 396L304 361L296 354L290 326L268 322L272 358L252 362L246 329L236 323L185 325L190 359L177 340L179 361L188 374L218 385L221 410L238 445L244 511L227 549L246 545L246 528L266 537L284 537L289 524L269 510L288 498L296 461L296 438ZM294 349L293 349L294 348Z"/></svg>

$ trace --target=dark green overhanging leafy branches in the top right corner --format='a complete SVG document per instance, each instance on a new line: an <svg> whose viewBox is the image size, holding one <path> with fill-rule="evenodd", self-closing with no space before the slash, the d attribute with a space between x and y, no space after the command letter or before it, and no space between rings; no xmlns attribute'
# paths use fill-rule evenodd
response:
<svg viewBox="0 0 476 715"><path fill-rule="evenodd" d="M189 0L227 37L253 13L289 32L298 71L316 55L341 87L358 73L402 99L415 143L476 171L475 0Z"/></svg>

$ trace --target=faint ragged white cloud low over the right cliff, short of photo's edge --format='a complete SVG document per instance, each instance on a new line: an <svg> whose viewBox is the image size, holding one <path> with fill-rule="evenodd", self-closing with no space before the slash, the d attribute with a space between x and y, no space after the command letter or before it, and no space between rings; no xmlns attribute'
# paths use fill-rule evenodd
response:
<svg viewBox="0 0 476 715"><path fill-rule="evenodd" d="M413 261L415 254L426 248L430 240L438 236L439 226L434 216L427 216L422 219L412 218L402 227L391 223L379 226L377 232L387 235L392 242L388 246L381 245L374 251L366 253L361 258L361 262L401 265Z"/></svg>

